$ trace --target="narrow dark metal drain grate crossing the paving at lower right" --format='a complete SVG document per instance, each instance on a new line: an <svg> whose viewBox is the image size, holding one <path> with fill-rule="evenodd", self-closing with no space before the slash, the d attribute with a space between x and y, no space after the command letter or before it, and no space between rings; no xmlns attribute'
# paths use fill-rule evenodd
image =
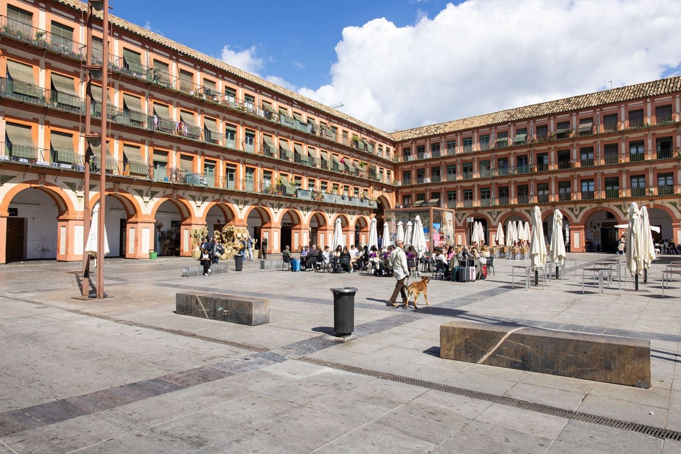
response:
<svg viewBox="0 0 681 454"><path fill-rule="evenodd" d="M534 404L533 402L527 402L526 400L518 400L513 398L507 398L501 395L481 393L479 391L471 391L470 389L458 388L451 385L445 385L444 383L435 383L428 380L420 380L418 378L411 378L395 374L387 374L385 372L358 368L355 366L349 366L347 364L332 363L330 361L324 361L323 359L317 359L308 356L292 357L291 359L295 359L296 361L302 361L304 363L316 364L317 366L324 366L326 368L344 370L345 372L353 372L354 374L373 376L376 378L381 378L383 380L390 380L398 383L407 383L407 385L414 385L422 388L434 389L436 391L443 391L445 393L463 395L467 398L484 400L486 402L492 402L494 404L502 404L516 408L522 408L523 410L539 412L545 415L554 415L561 418L575 419L576 421L584 421L586 423L605 425L607 427L615 427L616 429L629 430L631 432L638 432L640 434L646 434L667 440L681 440L681 432L663 429L662 427L654 427L652 425L632 423L629 421L621 421L620 419L612 419L597 415L589 415L588 413L580 413L572 410L565 410L563 408L556 408L543 404Z"/></svg>

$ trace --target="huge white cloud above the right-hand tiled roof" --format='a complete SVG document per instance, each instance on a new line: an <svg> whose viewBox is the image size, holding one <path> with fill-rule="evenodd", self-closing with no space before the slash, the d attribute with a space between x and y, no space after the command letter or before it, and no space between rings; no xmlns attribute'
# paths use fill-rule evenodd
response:
<svg viewBox="0 0 681 454"><path fill-rule="evenodd" d="M331 83L300 93L386 131L590 93L678 67L679 17L678 0L449 4L407 27L346 27Z"/></svg>

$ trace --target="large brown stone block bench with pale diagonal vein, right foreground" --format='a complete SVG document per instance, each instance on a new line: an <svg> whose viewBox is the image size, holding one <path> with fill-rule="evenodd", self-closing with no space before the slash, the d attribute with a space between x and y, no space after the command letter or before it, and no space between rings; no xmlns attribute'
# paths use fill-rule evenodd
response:
<svg viewBox="0 0 681 454"><path fill-rule="evenodd" d="M440 325L440 357L650 387L647 339L452 321Z"/></svg>

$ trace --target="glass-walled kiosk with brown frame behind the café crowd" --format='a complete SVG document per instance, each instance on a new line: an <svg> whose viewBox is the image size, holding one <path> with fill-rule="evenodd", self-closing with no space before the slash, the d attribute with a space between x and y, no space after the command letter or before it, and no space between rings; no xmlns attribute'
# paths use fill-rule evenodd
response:
<svg viewBox="0 0 681 454"><path fill-rule="evenodd" d="M390 239L397 238L397 225L401 221L402 229L407 234L407 223L413 224L416 216L421 218L426 236L426 247L432 250L434 246L449 246L454 244L454 210L424 206L419 208L396 208L385 210L385 222L390 229ZM411 244L411 238L405 238L405 244Z"/></svg>

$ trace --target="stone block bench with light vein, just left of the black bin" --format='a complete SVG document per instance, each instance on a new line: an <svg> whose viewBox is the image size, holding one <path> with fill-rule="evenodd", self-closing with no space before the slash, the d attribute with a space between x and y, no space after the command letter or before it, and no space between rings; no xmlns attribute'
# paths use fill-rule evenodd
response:
<svg viewBox="0 0 681 454"><path fill-rule="evenodd" d="M175 293L175 312L240 325L262 325L270 323L270 300L223 293Z"/></svg>

